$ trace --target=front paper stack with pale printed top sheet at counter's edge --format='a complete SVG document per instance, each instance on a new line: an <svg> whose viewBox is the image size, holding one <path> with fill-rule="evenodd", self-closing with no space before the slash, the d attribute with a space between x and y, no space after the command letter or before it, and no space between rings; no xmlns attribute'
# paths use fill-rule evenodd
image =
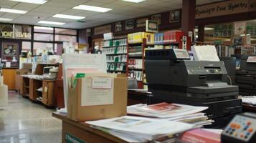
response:
<svg viewBox="0 0 256 143"><path fill-rule="evenodd" d="M86 123L126 142L150 142L195 127L183 122L129 116Z"/></svg>

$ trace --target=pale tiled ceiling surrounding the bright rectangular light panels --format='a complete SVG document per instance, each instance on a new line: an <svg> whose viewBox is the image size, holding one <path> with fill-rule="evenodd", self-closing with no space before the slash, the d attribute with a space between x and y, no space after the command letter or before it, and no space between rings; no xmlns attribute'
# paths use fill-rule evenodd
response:
<svg viewBox="0 0 256 143"><path fill-rule="evenodd" d="M196 4L208 4L214 1L222 0L196 0ZM78 6L80 4L102 6L113 10L106 13L100 13L95 11L72 9L74 6ZM157 14L163 11L180 9L182 7L182 0L146 0L138 4L122 0L48 0L47 3L42 5L0 0L0 6L29 11L27 14L23 15L0 12L1 17L14 19L14 21L11 22L17 24L36 24L47 26L47 24L37 24L37 21L44 19L67 23L60 27L82 29L110 22ZM82 20L86 22L80 23L72 19L57 19L52 17L54 14L85 16L86 18Z"/></svg>

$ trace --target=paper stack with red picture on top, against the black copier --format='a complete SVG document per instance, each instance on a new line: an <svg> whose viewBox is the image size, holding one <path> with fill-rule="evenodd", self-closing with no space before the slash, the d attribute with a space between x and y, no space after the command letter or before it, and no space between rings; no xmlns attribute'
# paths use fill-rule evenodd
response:
<svg viewBox="0 0 256 143"><path fill-rule="evenodd" d="M158 119L166 119L169 121L186 122L195 124L197 127L202 127L214 122L209 120L204 113L201 113L206 109L208 109L208 107L194 107L184 104L136 104L127 107L127 113L129 115L142 117L154 117Z"/></svg>

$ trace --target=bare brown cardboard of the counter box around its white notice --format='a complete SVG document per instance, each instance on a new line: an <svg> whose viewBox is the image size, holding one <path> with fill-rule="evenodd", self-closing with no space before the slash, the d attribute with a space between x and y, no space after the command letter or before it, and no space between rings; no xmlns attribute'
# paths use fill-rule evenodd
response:
<svg viewBox="0 0 256 143"><path fill-rule="evenodd" d="M126 114L127 107L127 78L113 79L113 104L82 107L82 79L77 79L74 89L69 89L67 117L75 121L92 121L121 117Z"/></svg>

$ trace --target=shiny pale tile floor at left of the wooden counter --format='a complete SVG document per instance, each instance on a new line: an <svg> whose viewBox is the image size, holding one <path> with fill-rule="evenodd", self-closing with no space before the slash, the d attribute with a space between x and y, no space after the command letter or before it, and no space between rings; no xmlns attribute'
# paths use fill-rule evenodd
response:
<svg viewBox="0 0 256 143"><path fill-rule="evenodd" d="M0 143L60 143L62 122L52 112L9 92L9 106L0 110Z"/></svg>

